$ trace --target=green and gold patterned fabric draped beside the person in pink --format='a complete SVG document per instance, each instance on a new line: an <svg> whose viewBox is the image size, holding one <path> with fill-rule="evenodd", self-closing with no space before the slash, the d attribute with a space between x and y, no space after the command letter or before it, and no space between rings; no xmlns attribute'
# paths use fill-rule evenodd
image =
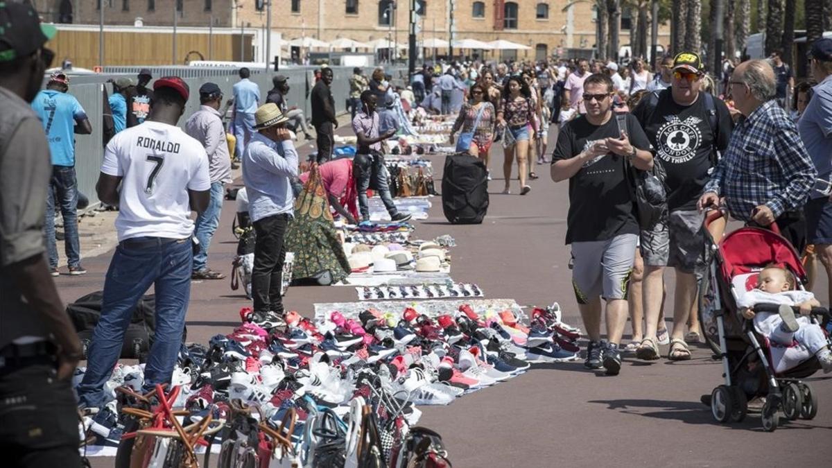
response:
<svg viewBox="0 0 832 468"><path fill-rule="evenodd" d="M295 221L286 232L285 242L286 251L295 252L295 279L314 278L329 271L335 283L349 275L349 261L335 232L317 164L310 168L304 191L295 200Z"/></svg>

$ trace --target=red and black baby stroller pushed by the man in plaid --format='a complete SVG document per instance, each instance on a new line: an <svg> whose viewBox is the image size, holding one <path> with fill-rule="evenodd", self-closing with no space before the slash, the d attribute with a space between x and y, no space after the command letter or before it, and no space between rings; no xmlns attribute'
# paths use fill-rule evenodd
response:
<svg viewBox="0 0 832 468"><path fill-rule="evenodd" d="M776 225L772 225L771 231L743 227L723 237L726 217L715 210L706 217L705 227L711 236L706 247L710 265L701 282L699 319L707 344L721 357L725 376L725 384L711 392L714 419L723 423L742 421L748 412L748 401L758 396L765 397L765 431L777 429L781 410L790 420L814 418L818 411L817 395L801 379L820 370L817 358L797 343L780 346L760 336L752 321L745 320L736 306L737 298L754 288L760 270L772 264L791 271L797 280L795 287L803 289L806 272L800 256L780 236ZM758 304L754 309L776 312L777 307ZM828 315L826 309L812 311L813 321L817 316ZM800 355L801 350L805 355ZM801 357L804 359L799 361ZM794 365L784 368L783 363L789 359Z"/></svg>

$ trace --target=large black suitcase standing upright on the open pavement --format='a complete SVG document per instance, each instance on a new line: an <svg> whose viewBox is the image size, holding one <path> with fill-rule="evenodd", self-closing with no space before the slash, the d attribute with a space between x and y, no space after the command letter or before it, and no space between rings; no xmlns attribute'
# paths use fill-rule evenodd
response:
<svg viewBox="0 0 832 468"><path fill-rule="evenodd" d="M442 211L451 224L480 224L488 212L488 171L467 152L448 155L442 176Z"/></svg>

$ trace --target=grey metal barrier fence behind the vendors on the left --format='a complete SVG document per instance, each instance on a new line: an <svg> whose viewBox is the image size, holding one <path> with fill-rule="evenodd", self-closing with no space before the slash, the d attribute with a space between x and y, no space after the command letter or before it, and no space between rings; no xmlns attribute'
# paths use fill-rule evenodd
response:
<svg viewBox="0 0 832 468"><path fill-rule="evenodd" d="M133 77L143 67L106 67L105 73L110 76L121 74ZM185 127L187 118L200 107L199 88L205 82L215 82L222 90L225 97L233 96L232 87L239 81L236 68L225 67L150 67L153 77L176 75L183 77L188 87L191 88L191 98L188 99L185 113L179 121L180 127ZM312 117L309 92L314 87L314 67L292 67L280 70L280 72L264 72L263 70L252 70L250 80L260 87L260 102L265 102L269 90L272 88L271 79L275 75L284 75L289 78L290 92L286 97L288 106L296 106L303 109L305 117ZM346 101L349 97L349 77L353 73L352 67L332 67L334 80L332 82L332 94L335 100L335 112L347 111ZM404 71L403 71L404 70ZM369 72L369 69L365 69ZM403 68L387 69L386 72L394 77L394 82L402 84L407 70ZM99 75L101 81L106 80L106 75ZM92 123L91 135L76 136L76 172L78 190L90 199L90 206L97 206L99 203L95 187L98 180L98 173L104 157L102 144L102 118L103 118L103 90L106 87L107 94L112 92L112 87L106 82L89 82L93 77L73 80L69 93L77 97L87 117ZM80 83L78 83L80 82Z"/></svg>

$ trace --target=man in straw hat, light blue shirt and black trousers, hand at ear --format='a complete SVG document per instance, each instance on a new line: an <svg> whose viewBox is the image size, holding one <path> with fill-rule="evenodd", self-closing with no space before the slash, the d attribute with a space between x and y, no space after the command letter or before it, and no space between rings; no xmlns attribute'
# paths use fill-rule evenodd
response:
<svg viewBox="0 0 832 468"><path fill-rule="evenodd" d="M243 153L243 182L256 233L252 321L265 329L285 325L280 296L286 257L283 236L295 206L290 181L298 177L298 152L285 127L288 121L274 103L258 108L257 133Z"/></svg>

